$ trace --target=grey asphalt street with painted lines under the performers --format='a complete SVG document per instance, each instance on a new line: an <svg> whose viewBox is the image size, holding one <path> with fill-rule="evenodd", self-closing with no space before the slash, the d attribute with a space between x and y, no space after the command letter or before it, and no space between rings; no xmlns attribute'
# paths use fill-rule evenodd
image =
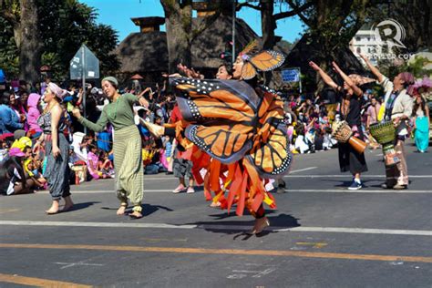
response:
<svg viewBox="0 0 432 288"><path fill-rule="evenodd" d="M75 210L52 216L46 192L2 197L0 286L431 287L432 154L407 150L403 191L379 188L379 150L355 192L336 150L295 156L260 237L164 174L146 175L140 220L115 214L112 180L74 187Z"/></svg>

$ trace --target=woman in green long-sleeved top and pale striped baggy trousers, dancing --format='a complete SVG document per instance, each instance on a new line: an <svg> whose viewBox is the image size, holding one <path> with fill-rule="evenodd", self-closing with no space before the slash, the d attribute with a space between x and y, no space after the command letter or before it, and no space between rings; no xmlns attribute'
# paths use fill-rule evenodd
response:
<svg viewBox="0 0 432 288"><path fill-rule="evenodd" d="M116 171L116 190L120 207L117 214L125 214L128 208L128 199L133 205L131 218L141 218L141 201L144 190L144 171L141 159L141 138L139 130L134 123L133 105L139 102L142 106L149 103L142 96L118 93L118 80L115 77L105 77L102 80L102 89L111 101L102 110L97 123L93 123L81 116L79 109L74 108L73 114L78 121L96 132L105 129L109 123L114 127L114 169Z"/></svg>

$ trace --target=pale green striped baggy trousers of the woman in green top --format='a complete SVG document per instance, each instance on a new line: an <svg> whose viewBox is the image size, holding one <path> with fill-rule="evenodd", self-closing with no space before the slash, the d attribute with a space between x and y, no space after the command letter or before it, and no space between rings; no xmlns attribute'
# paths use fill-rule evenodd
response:
<svg viewBox="0 0 432 288"><path fill-rule="evenodd" d="M141 138L135 125L114 132L114 168L118 199L129 201L134 211L141 211L144 190L144 170L141 158Z"/></svg>

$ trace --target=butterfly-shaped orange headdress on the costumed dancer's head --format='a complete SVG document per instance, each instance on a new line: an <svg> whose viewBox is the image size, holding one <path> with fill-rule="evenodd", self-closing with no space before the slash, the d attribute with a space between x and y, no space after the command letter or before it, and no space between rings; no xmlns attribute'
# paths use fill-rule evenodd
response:
<svg viewBox="0 0 432 288"><path fill-rule="evenodd" d="M270 71L280 67L283 61L285 61L285 57L280 52L273 50L256 52L257 48L258 43L256 40L253 40L239 54L239 57L242 57L244 61L242 78L245 80L255 77L257 70L263 72Z"/></svg>

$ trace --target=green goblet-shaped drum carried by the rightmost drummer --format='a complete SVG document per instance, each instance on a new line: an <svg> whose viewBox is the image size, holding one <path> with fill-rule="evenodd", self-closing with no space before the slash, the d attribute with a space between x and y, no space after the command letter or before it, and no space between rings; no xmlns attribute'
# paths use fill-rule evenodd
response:
<svg viewBox="0 0 432 288"><path fill-rule="evenodd" d="M386 166L396 165L400 159L395 151L396 129L392 121L372 124L369 127L372 137L383 145L384 162Z"/></svg>

